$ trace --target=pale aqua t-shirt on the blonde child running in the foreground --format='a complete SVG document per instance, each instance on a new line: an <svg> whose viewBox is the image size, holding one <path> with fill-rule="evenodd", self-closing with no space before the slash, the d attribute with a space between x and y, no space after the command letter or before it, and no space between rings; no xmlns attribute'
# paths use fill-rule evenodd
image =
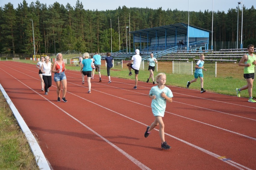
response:
<svg viewBox="0 0 256 170"><path fill-rule="evenodd" d="M158 86L153 86L149 91L149 95L156 96L156 98L151 102L151 108L154 116L164 116L166 108L166 99L161 97L161 93L164 92L167 97L173 97L172 91L164 86L163 89L159 89Z"/></svg>

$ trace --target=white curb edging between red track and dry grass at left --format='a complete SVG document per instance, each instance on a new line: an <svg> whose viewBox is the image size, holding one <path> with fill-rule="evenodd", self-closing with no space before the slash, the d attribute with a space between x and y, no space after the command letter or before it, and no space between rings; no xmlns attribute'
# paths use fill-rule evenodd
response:
<svg viewBox="0 0 256 170"><path fill-rule="evenodd" d="M13 112L13 115L15 116L15 118L20 126L20 129L22 130L22 132L24 133L24 135L27 138L27 141L29 143L32 153L34 154L35 161L36 161L39 169L50 170L50 166L47 163L47 160L44 157L43 151L41 150L40 146L38 145L34 135L30 131L26 122L21 117L20 113L18 112L18 110L16 109L14 104L12 103L11 99L9 98L9 96L7 95L7 93L5 92L5 90L1 84L0 84L0 90L3 93L6 102L9 104L11 111Z"/></svg>

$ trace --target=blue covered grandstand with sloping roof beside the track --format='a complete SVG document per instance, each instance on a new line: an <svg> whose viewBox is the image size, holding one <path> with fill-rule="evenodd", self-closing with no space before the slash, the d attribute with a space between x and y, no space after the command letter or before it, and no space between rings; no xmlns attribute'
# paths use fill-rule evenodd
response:
<svg viewBox="0 0 256 170"><path fill-rule="evenodd" d="M131 31L133 48L141 52L208 50L211 31L178 23Z"/></svg>

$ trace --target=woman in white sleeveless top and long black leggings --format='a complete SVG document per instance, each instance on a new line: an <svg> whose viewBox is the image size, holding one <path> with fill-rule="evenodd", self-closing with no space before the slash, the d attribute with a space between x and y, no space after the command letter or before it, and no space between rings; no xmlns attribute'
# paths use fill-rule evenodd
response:
<svg viewBox="0 0 256 170"><path fill-rule="evenodd" d="M41 72L43 73L45 95L48 95L49 87L52 86L52 63L49 62L49 56L45 57L45 62L42 64Z"/></svg>

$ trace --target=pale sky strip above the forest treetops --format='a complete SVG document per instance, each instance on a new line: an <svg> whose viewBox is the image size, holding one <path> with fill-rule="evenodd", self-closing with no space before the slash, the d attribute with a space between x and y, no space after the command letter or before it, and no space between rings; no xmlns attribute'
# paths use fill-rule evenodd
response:
<svg viewBox="0 0 256 170"><path fill-rule="evenodd" d="M36 0L26 0L28 5L31 2L35 2ZM66 6L66 4L69 2L71 6L75 6L76 0L56 0L60 4L63 4ZM224 11L227 13L227 11L231 8L235 9L238 5L238 2L242 0L213 0L213 10L214 11ZM11 2L11 4L14 5L14 8L18 7L18 4L22 3L23 0L0 0L0 6L4 7L5 4L8 4L8 2ZM54 0L39 0L40 3L43 4L53 4ZM126 7L139 7L139 8L152 8L157 9L159 7L162 7L163 10L167 10L168 8L171 10L174 10L177 8L177 10L184 10L187 11L189 8L189 11L203 11L209 10L212 11L212 0L80 0L82 4L84 5L84 9L89 10L115 10L119 6L122 8L123 5ZM188 5L189 3L189 5ZM243 0L243 4L246 8L251 8L253 5L254 8L256 8L256 0ZM241 8L242 4L239 5L239 8Z"/></svg>

